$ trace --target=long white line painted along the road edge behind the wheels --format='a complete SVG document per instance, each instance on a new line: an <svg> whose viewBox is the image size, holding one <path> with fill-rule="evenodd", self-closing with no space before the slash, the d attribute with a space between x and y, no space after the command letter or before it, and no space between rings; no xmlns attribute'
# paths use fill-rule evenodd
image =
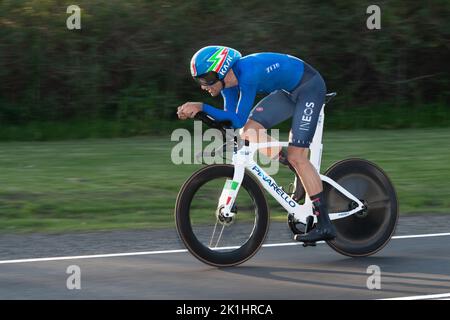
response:
<svg viewBox="0 0 450 320"><path fill-rule="evenodd" d="M429 237L445 237L450 236L448 233L431 233L431 234L418 234L409 236L395 236L392 239L413 239L413 238L429 238ZM325 241L319 241L318 244L323 244ZM285 246L298 246L302 245L301 242L286 242L286 243L272 243L264 244L263 247L285 247ZM238 247L223 247L218 249L235 249ZM61 260L77 260L77 259L95 259L95 258L112 258L112 257L127 257L127 256L143 256L152 254L166 254L166 253L183 253L187 252L186 249L179 250L161 250L161 251L143 251L143 252L125 252L125 253L109 253L109 254L95 254L85 256L66 256L66 257L49 257L49 258L32 258L32 259L16 259L16 260L0 260L0 264L13 264L13 263L28 263L28 262L45 262L45 261L61 261Z"/></svg>

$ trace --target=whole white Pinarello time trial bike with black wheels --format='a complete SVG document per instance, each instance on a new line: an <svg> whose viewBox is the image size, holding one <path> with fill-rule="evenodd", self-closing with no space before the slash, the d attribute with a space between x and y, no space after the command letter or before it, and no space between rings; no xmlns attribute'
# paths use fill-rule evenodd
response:
<svg viewBox="0 0 450 320"><path fill-rule="evenodd" d="M320 172L325 105L313 142L310 161ZM226 123L206 113L196 118L227 136ZM269 227L269 206L263 189L287 213L294 239L315 227L312 203L295 175L292 190L284 190L254 160L258 149L285 147L287 142L251 143L236 136L231 164L207 165L181 187L175 205L178 234L196 258L217 267L238 265L255 255ZM330 219L337 237L327 244L350 256L369 256L391 239L398 221L398 201L393 184L376 164L358 158L338 161L320 174ZM304 244L314 245L314 243Z"/></svg>

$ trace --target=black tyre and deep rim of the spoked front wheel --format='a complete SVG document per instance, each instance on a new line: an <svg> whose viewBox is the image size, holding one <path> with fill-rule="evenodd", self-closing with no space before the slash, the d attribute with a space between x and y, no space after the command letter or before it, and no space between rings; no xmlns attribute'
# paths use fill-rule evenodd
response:
<svg viewBox="0 0 450 320"><path fill-rule="evenodd" d="M249 229L249 238L246 239L245 243L238 248L231 249L231 251L212 250L200 240L200 235L194 232L195 228L191 223L191 211L193 202L197 201L194 198L196 193L209 181L232 179L233 172L234 167L231 165L210 165L201 168L183 184L175 205L177 231L186 248L200 261L215 267L235 266L250 259L263 244L269 227L269 209L264 193L260 185L248 173L245 173L238 197L245 189L250 196L249 202L254 205L254 212L253 207L250 210L254 215L252 222L254 226L251 230ZM218 190L219 192L221 192L221 188ZM217 200L215 206L217 206ZM208 210L208 215L216 219L215 210L211 211L209 213ZM239 212L236 214L236 217L239 218ZM238 223L233 222L230 228L234 227L235 224Z"/></svg>

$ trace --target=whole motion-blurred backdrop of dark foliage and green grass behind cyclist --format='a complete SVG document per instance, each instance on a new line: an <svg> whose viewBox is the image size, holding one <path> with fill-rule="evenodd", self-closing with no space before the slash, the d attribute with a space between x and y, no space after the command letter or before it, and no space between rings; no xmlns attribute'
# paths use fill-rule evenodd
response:
<svg viewBox="0 0 450 320"><path fill-rule="evenodd" d="M66 27L73 4L81 30ZM401 214L450 213L450 2L377 1L379 30L366 26L371 4L2 0L0 230L173 226L177 192L198 167L170 160L172 131L192 129L176 108L222 105L190 78L191 56L210 44L313 65L338 92L323 168L375 161Z"/></svg>

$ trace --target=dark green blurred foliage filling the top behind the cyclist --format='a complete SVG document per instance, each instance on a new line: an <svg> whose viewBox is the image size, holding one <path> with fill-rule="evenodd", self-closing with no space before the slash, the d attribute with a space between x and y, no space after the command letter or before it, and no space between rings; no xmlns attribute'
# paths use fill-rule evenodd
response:
<svg viewBox="0 0 450 320"><path fill-rule="evenodd" d="M405 121L386 119L388 127L432 126L421 109L431 104L443 115L438 124L448 125L446 0L379 1L381 30L366 28L369 4L356 0L80 0L82 29L68 30L71 4L0 2L0 126L89 119L111 123L115 129L103 136L167 130L185 101L221 104L203 95L189 75L192 54L208 44L304 59L329 90L339 92L336 114L357 115L367 120L364 126L383 127L370 120L379 114L368 106L403 115ZM363 125L336 120L330 126ZM59 137L71 137L67 130ZM92 136L82 132L74 135Z"/></svg>

